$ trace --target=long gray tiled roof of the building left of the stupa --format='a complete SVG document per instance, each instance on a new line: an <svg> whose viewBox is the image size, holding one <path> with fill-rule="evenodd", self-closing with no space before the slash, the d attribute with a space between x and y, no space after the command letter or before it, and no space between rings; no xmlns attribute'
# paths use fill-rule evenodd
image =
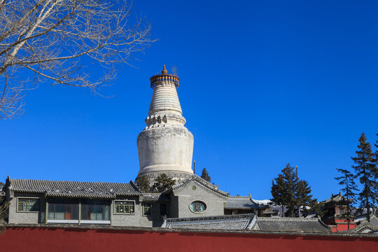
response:
<svg viewBox="0 0 378 252"><path fill-rule="evenodd" d="M43 193L50 197L115 198L116 195L141 195L130 183L46 181L34 179L8 179L9 190L18 193Z"/></svg>

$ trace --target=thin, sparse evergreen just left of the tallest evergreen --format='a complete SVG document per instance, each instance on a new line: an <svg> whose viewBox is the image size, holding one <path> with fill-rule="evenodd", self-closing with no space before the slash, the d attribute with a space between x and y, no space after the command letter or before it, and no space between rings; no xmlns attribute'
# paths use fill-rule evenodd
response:
<svg viewBox="0 0 378 252"><path fill-rule="evenodd" d="M346 214L343 216L346 218L348 222L348 230L349 230L349 223L351 222L351 206L353 202L356 200L356 183L354 182L354 175L351 174L346 169L337 169L337 172L342 174L342 176L336 177L335 179L339 181L339 185L343 186L342 193L343 197L346 198Z"/></svg>

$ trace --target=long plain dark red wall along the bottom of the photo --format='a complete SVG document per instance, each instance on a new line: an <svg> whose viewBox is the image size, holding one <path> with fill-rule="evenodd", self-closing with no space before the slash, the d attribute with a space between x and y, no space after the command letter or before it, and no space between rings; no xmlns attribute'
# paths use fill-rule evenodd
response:
<svg viewBox="0 0 378 252"><path fill-rule="evenodd" d="M377 251L378 237L8 228L1 251Z"/></svg>

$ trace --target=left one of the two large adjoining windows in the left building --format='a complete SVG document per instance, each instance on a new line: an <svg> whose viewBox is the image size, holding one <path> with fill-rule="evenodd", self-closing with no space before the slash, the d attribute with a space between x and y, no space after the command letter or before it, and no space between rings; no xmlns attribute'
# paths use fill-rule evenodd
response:
<svg viewBox="0 0 378 252"><path fill-rule="evenodd" d="M49 200L48 220L78 220L78 200Z"/></svg>

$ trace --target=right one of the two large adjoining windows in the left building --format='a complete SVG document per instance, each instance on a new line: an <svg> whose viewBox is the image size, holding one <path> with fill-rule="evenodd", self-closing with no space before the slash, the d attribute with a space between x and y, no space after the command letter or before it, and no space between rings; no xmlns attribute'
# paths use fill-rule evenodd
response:
<svg viewBox="0 0 378 252"><path fill-rule="evenodd" d="M81 220L110 221L110 202L107 200L82 200Z"/></svg>

